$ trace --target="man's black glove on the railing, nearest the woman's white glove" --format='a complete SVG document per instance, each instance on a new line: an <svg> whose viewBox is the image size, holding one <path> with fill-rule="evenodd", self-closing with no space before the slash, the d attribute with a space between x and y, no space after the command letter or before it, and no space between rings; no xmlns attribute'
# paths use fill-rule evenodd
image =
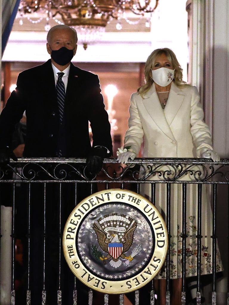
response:
<svg viewBox="0 0 229 305"><path fill-rule="evenodd" d="M107 149L105 147L97 146L92 148L86 160L87 170L90 174L96 175L100 172L106 155Z"/></svg>

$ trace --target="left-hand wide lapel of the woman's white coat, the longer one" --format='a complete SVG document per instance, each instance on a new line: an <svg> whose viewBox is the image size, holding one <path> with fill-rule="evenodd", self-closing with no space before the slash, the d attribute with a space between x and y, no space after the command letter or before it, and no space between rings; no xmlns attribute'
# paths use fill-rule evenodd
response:
<svg viewBox="0 0 229 305"><path fill-rule="evenodd" d="M175 140L158 99L154 83L150 90L144 95L143 104L151 118L154 120L154 123L161 129L161 131L170 139Z"/></svg>

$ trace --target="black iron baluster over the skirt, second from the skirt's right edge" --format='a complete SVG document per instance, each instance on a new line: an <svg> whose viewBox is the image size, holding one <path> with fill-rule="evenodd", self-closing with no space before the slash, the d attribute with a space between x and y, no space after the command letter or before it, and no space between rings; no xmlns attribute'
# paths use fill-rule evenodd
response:
<svg viewBox="0 0 229 305"><path fill-rule="evenodd" d="M202 210L202 184L198 184L198 215L197 215L197 305L201 305L201 210Z"/></svg>

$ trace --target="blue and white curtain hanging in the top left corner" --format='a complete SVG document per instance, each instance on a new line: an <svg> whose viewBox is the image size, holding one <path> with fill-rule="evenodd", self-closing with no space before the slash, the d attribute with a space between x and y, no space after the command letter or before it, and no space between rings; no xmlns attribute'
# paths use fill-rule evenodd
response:
<svg viewBox="0 0 229 305"><path fill-rule="evenodd" d="M0 0L2 1L2 54L9 39L9 34L13 27L13 22L17 14L20 0Z"/></svg>

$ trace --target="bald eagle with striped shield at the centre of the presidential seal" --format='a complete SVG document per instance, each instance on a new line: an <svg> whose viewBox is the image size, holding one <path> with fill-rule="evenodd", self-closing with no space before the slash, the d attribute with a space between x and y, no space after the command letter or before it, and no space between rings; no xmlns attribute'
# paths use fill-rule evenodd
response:
<svg viewBox="0 0 229 305"><path fill-rule="evenodd" d="M110 260L112 267L118 268L122 265L122 259L126 259L126 264L133 260L133 256L126 256L133 243L134 231L137 227L136 221L124 214L112 213L100 217L94 222L93 229L97 235L100 248L107 253L107 256L101 255L100 260ZM134 256L140 252L141 246L138 245L134 251ZM133 253L133 252L132 252Z"/></svg>

